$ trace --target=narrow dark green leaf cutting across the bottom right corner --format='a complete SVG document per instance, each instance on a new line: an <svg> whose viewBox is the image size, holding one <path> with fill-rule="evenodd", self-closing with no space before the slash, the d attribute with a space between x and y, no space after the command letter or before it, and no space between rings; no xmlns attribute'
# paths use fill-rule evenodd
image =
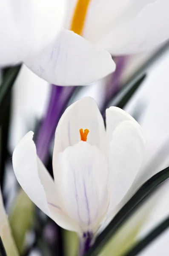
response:
<svg viewBox="0 0 169 256"><path fill-rule="evenodd" d="M140 253L148 244L150 244L154 239L160 236L169 227L169 217L167 217L162 223L160 223L155 229L153 229L146 237L138 241L135 246L129 250L123 256L135 256Z"/></svg>

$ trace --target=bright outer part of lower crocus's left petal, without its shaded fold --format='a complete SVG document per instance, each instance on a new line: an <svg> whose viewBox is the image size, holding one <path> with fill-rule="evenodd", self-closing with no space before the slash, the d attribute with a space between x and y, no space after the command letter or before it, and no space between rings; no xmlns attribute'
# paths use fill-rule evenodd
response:
<svg viewBox="0 0 169 256"><path fill-rule="evenodd" d="M12 157L14 173L34 204L50 216L46 193L38 176L36 148L32 138L33 132L30 131L14 149Z"/></svg>

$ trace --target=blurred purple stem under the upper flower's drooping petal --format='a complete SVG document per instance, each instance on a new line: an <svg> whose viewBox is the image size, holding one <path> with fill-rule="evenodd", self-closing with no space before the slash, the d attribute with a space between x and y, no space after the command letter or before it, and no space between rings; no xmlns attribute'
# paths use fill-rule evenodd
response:
<svg viewBox="0 0 169 256"><path fill-rule="evenodd" d="M54 137L54 132L57 127L57 123L66 105L72 96L72 93L76 87L62 87L57 85L52 85L51 97L49 99L49 105L47 108L46 116L43 119L37 137L35 139L35 144L37 147L37 155L46 163L49 146Z"/></svg>

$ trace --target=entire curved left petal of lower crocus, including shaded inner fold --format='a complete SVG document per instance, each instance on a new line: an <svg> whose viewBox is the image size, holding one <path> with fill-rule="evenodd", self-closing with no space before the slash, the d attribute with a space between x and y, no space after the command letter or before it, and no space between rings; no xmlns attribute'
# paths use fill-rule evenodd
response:
<svg viewBox="0 0 169 256"><path fill-rule="evenodd" d="M33 132L27 133L13 153L13 168L20 186L43 212L61 227L78 231L78 226L62 211L54 187L54 181L37 157L32 140Z"/></svg>

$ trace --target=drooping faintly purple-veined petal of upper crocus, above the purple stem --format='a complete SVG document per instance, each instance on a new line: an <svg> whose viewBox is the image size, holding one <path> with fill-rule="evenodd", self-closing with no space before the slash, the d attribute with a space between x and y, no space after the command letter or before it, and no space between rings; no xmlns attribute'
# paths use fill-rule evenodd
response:
<svg viewBox="0 0 169 256"><path fill-rule="evenodd" d="M108 52L69 30L24 62L35 74L57 85L89 84L115 70Z"/></svg>

